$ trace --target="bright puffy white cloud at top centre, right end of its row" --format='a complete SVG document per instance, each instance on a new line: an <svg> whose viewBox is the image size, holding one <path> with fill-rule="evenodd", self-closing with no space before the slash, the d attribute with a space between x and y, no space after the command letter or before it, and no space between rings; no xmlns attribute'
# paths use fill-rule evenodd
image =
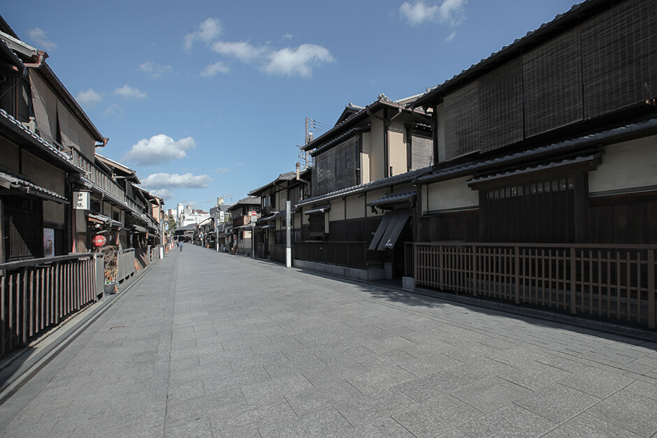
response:
<svg viewBox="0 0 657 438"><path fill-rule="evenodd" d="M299 75L310 78L312 67L335 58L328 49L315 44L302 44L298 48L284 48L268 54L268 63L263 67L271 75Z"/></svg>

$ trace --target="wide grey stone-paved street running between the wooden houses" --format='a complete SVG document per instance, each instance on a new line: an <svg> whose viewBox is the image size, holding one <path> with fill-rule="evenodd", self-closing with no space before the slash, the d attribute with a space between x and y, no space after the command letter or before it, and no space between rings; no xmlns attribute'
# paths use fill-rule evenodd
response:
<svg viewBox="0 0 657 438"><path fill-rule="evenodd" d="M649 437L656 349L187 245L0 406L0 435Z"/></svg>

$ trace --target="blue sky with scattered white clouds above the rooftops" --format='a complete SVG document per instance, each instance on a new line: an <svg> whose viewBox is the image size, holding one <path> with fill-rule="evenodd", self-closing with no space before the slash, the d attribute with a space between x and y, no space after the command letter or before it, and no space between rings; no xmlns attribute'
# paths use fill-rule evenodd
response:
<svg viewBox="0 0 657 438"><path fill-rule="evenodd" d="M433 87L572 0L14 1L1 15L166 207L294 170L305 117ZM321 133L321 132L318 132Z"/></svg>

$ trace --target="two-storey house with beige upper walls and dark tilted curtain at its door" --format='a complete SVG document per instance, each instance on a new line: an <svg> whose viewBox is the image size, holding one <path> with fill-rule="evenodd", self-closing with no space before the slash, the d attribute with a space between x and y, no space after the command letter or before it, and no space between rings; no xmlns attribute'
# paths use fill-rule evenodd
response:
<svg viewBox="0 0 657 438"><path fill-rule="evenodd" d="M296 213L303 240L295 245L296 265L402 277L403 242L415 228L413 181L433 164L431 118L408 106L415 97L381 94L366 107L349 104L332 129L305 145L315 165L312 196Z"/></svg>

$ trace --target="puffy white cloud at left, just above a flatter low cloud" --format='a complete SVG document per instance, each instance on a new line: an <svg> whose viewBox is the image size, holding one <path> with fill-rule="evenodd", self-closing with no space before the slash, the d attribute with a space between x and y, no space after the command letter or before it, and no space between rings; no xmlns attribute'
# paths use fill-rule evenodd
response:
<svg viewBox="0 0 657 438"><path fill-rule="evenodd" d="M127 161L136 161L143 166L166 163L187 156L187 150L194 149L194 138L181 138L178 141L164 134L139 140L124 157Z"/></svg>

